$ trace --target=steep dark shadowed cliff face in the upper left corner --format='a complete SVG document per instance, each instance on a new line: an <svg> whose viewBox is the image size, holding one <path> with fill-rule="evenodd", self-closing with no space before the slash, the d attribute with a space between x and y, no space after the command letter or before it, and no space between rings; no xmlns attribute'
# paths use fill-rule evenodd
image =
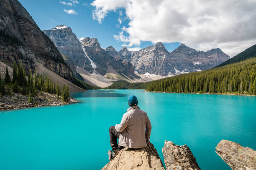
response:
<svg viewBox="0 0 256 170"><path fill-rule="evenodd" d="M61 77L71 80L72 71L54 43L38 28L18 0L0 3L0 60L10 65L16 60L26 71L41 63Z"/></svg>

